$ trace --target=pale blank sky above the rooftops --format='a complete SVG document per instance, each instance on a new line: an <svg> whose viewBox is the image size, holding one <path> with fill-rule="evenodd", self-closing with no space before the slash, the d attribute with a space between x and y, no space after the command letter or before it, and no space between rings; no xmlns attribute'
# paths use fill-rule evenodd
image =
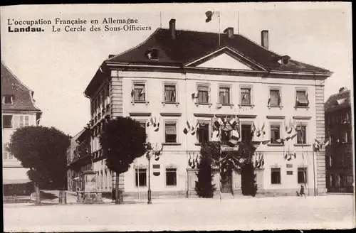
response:
<svg viewBox="0 0 356 233"><path fill-rule="evenodd" d="M74 136L90 120L90 100L83 94L103 60L148 38L162 23L168 28L218 32L219 23L205 22L206 11L219 11L221 33L234 27L261 44L269 32L269 49L281 55L333 71L325 81L325 100L340 87L352 89L351 4L126 4L43 5L1 7L1 60L31 90L43 116L41 125L55 126ZM151 31L52 32L55 18L137 19ZM51 20L42 33L10 33L9 21ZM54 25L58 26L58 25ZM11 27L16 27L14 23ZM352 92L353 93L353 92Z"/></svg>

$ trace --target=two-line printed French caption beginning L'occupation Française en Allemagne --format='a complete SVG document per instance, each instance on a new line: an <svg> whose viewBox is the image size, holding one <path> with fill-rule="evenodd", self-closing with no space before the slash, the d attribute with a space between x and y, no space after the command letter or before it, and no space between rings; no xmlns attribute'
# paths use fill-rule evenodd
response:
<svg viewBox="0 0 356 233"><path fill-rule="evenodd" d="M96 26L100 23L97 19L92 19L90 21L86 19L73 19L73 20L63 20L61 18L55 18L52 22L51 20L43 20L42 18L38 20L15 20L14 18L8 18L8 31L11 33L21 33L21 32L43 32L45 31L43 25L51 25L52 32L61 32L62 29L66 32L82 32L82 31L151 31L150 26L137 25L138 20L135 18L103 18L101 23L102 26ZM87 24L91 23L90 28L87 28ZM53 25L54 24L54 25ZM113 24L116 24L113 26ZM123 25L120 25L123 24ZM64 26L61 28L60 26Z"/></svg>

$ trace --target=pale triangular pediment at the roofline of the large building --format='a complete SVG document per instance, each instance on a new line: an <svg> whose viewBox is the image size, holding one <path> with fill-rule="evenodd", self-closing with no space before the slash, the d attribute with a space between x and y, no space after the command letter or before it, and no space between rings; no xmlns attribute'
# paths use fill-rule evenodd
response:
<svg viewBox="0 0 356 233"><path fill-rule="evenodd" d="M236 58L232 58L231 55L226 53L217 55L216 57L207 60L205 63L197 65L197 67L231 70L253 70L251 67L248 67L248 65L241 63L241 61L237 60Z"/></svg>

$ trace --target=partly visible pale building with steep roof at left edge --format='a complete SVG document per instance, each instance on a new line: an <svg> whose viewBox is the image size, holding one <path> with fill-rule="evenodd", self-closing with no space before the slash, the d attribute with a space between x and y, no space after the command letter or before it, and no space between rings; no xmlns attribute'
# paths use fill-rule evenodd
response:
<svg viewBox="0 0 356 233"><path fill-rule="evenodd" d="M32 184L20 161L6 149L11 134L23 126L36 126L41 110L35 106L33 91L24 85L3 62L1 62L1 115L3 143L3 184L4 194L23 194L31 191Z"/></svg>

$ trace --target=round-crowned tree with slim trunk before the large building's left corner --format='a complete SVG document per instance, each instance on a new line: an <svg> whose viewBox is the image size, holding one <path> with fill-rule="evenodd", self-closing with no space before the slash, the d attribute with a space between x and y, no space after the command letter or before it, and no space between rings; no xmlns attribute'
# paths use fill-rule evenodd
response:
<svg viewBox="0 0 356 233"><path fill-rule="evenodd" d="M119 175L129 170L135 158L145 153L145 128L130 117L117 117L107 122L99 141L106 156L106 166L116 173L115 203L120 204Z"/></svg>

